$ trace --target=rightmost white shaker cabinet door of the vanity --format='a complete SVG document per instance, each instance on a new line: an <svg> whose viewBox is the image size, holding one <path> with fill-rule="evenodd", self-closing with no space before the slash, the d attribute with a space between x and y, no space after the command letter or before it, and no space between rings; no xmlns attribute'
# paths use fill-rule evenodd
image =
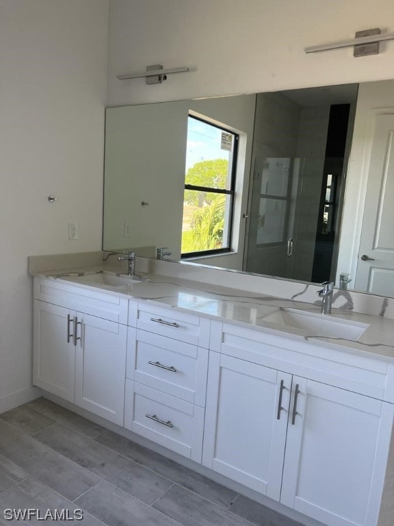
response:
<svg viewBox="0 0 394 526"><path fill-rule="evenodd" d="M293 377L280 501L328 526L375 526L392 425L389 403Z"/></svg>

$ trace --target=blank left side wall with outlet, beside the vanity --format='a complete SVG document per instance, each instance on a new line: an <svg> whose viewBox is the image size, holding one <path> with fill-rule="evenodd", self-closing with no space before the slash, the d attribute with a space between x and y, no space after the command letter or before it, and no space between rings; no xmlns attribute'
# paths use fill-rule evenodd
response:
<svg viewBox="0 0 394 526"><path fill-rule="evenodd" d="M107 22L108 0L0 0L0 412L31 387L27 256L101 248Z"/></svg>

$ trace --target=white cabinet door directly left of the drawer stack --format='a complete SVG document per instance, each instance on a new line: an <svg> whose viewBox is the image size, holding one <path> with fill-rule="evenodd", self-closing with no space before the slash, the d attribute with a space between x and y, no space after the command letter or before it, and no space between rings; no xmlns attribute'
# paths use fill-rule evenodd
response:
<svg viewBox="0 0 394 526"><path fill-rule="evenodd" d="M75 403L123 425L127 327L77 313Z"/></svg>

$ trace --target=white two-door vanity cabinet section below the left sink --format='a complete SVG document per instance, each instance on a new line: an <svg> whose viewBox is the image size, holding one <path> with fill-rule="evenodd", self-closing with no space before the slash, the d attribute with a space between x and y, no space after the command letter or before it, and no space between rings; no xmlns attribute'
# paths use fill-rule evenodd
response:
<svg viewBox="0 0 394 526"><path fill-rule="evenodd" d="M128 300L37 278L35 297L34 384L122 425Z"/></svg>

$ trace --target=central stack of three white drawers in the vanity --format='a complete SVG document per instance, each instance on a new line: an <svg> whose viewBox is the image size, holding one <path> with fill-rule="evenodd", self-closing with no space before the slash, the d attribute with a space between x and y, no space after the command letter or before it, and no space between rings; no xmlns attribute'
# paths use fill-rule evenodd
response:
<svg viewBox="0 0 394 526"><path fill-rule="evenodd" d="M129 324L124 427L201 462L209 320L139 302Z"/></svg>

